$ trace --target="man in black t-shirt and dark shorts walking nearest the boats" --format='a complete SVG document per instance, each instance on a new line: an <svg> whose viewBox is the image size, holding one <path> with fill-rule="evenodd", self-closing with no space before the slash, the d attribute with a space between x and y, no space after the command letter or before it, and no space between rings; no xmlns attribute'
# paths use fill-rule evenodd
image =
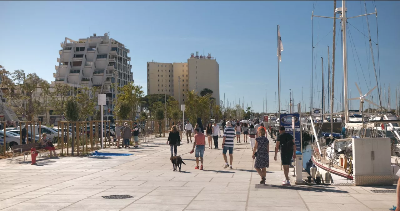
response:
<svg viewBox="0 0 400 211"><path fill-rule="evenodd" d="M282 181L282 185L290 186L289 180L289 165L292 162L292 158L296 159L296 145L294 143L293 136L290 133L285 132L285 127L279 126L279 135L276 137L276 147L274 160L276 161L276 154L278 154L278 148L280 147L280 160L282 161L283 173L285 180Z"/></svg>

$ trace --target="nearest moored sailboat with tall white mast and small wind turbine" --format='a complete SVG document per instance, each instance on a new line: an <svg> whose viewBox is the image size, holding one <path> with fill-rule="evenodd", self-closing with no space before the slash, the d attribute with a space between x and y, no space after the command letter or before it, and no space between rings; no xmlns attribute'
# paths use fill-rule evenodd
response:
<svg viewBox="0 0 400 211"><path fill-rule="evenodd" d="M335 3L335 7L336 7L336 1L334 1ZM346 25L347 25L347 17L346 17L346 12L347 12L347 8L346 8L346 1L342 0L342 7L341 8L336 8L335 9L335 15L339 14L340 18L336 18L334 17L334 20L339 19L341 21L342 24L342 35L343 35L343 78L344 78L344 100L348 101L348 100L354 100L355 98L349 99L348 98L348 84L347 84L347 44L346 44ZM370 14L376 14L376 10L374 13L370 13ZM370 14L363 14L360 16L366 16L366 15L370 15ZM322 18L329 18L326 16L316 16L314 15L314 11L312 14L313 17L322 17ZM359 16L356 16L359 17ZM354 17L351 17L354 18ZM334 27L335 27L335 22L334 22ZM335 32L335 29L334 29ZM335 37L335 35L334 35ZM334 52L333 52L334 54ZM332 61L334 63L334 60ZM332 65L334 66L334 65ZM332 77L333 79L334 77ZM333 83L332 83L333 84ZM358 86L357 86L358 88ZM371 121L371 120L365 120L364 116L362 114L362 108L363 108L363 104L364 104L364 100L366 100L367 102L370 102L369 100L365 99L365 95L361 94L360 89L358 88L359 92L360 92L360 110L358 111L349 111L348 109L348 103L344 102L344 127L342 128L342 133L340 134L340 138L341 139L334 139L334 137L332 137L332 135L330 135L329 139L332 141L332 143L330 145L324 145L326 144L326 138L318 137L317 131L316 131L316 127L314 125L314 119L312 117L310 117L310 124L311 124L311 131L313 133L314 136L314 143L312 144L312 148L313 148L313 154L312 154L312 163L313 163L313 167L310 169L310 174L312 176L312 178L315 179L316 183L318 182L322 182L322 183L352 183L353 181L356 181L356 175L354 175L354 167L355 165L355 160L353 160L354 157L354 152L353 152L353 148L354 148L354 143L356 143L357 145L360 143L360 141L364 141L364 139L360 139L360 141L355 142L354 138L360 138L360 137L368 137L370 135L370 130L374 128L374 125L376 123L379 123L379 121ZM371 92L372 90L370 90ZM368 93L370 93L368 92ZM332 90L332 96L333 96L333 90ZM332 97L333 98L333 97ZM331 101L332 102L332 101ZM370 102L371 103L371 102ZM373 103L373 102L372 102ZM333 111L333 103L331 103L331 109L330 112L330 119L332 119L332 115L338 115L340 113L332 113ZM359 115L359 113L361 113L361 115ZM385 120L389 119L385 116ZM331 121L332 122L332 121ZM390 124L390 127L393 127ZM357 131L359 135L355 135L354 133L352 133L352 136L350 136L349 138L346 137L346 135L348 135L348 131L352 130L352 132ZM368 131L368 133L367 133ZM347 132L347 133L346 133ZM332 134L332 126L331 126L331 134ZM370 136L369 136L370 137ZM372 140L375 139L375 140ZM399 137L400 139L400 137ZM367 141L381 141L382 138L371 138L368 139ZM384 139L384 141L388 141L388 139ZM383 142L382 142L383 143ZM385 142L386 143L386 142ZM386 149L386 148L385 148ZM359 156L360 154L368 154L368 153L372 153L371 151L364 151L362 152L362 150L358 149L357 150L357 154L356 156ZM373 153L372 153L373 154ZM372 156L372 155L371 155ZM383 156L383 155L381 155ZM387 155L385 155L387 156ZM362 165L364 164L368 164L368 162L371 161L367 161L365 160L365 162L362 159L358 159L358 168L362 169ZM386 162L386 161L384 161ZM383 163L384 163L383 162ZM382 165L379 166L382 169L382 172L385 172L384 174L382 174L382 181L384 181L384 184L390 184L392 183L391 180L393 180L393 174L390 175L390 169L388 168L388 165ZM378 167L374 167L376 169L378 169ZM370 170L366 170L366 175L372 175L374 174L372 172L368 172ZM373 170L371 170L373 171ZM389 171L389 173L387 172ZM359 171L360 172L360 171ZM368 176L369 177L369 176ZM374 176L371 176L370 178L375 178ZM362 177L360 176L360 178L358 179L358 183L360 182L365 182L368 184L367 181L368 179L367 177Z"/></svg>

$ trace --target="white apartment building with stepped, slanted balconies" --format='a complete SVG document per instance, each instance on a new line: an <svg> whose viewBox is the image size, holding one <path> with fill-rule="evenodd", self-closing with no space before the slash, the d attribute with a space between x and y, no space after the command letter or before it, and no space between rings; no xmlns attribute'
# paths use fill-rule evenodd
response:
<svg viewBox="0 0 400 211"><path fill-rule="evenodd" d="M122 87L132 78L130 52L124 44L108 36L90 36L79 40L65 38L61 42L60 58L57 58L54 83L67 83L74 87L103 86L106 94L104 115L112 117L114 111L113 100L116 95L115 81ZM107 118L108 119L108 118Z"/></svg>

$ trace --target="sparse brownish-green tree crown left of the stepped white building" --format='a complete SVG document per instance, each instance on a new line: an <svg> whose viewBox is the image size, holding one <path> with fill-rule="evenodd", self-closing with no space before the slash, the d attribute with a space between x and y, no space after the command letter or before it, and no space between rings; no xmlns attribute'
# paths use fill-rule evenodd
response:
<svg viewBox="0 0 400 211"><path fill-rule="evenodd" d="M25 74L24 70L15 70L10 74L11 80L7 87L3 87L4 97L28 121L42 113L44 100L49 94L50 85L36 73Z"/></svg>

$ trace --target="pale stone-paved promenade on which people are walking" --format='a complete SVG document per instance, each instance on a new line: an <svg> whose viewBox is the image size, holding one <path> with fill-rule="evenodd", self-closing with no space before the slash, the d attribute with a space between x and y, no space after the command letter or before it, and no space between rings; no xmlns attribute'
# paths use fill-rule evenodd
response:
<svg viewBox="0 0 400 211"><path fill-rule="evenodd" d="M166 138L139 148L101 150L134 153L127 157L60 157L38 165L0 160L0 211L387 211L396 204L395 193L371 191L395 186L282 187L284 175L279 159L273 160L273 145L263 188L256 188L260 176L250 143L236 140L233 169L222 168L222 149L208 148L204 171L194 169L186 137L178 147L178 155L188 153L181 156L186 163L181 173L172 171ZM133 198L102 198L108 195Z"/></svg>

